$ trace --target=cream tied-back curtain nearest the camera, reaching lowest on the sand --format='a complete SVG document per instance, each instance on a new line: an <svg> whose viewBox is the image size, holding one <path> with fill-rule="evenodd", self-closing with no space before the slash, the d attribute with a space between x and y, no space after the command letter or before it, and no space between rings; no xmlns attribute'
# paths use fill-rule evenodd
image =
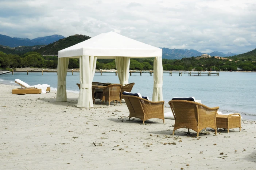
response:
<svg viewBox="0 0 256 170"><path fill-rule="evenodd" d="M80 92L78 108L92 108L92 81L95 73L97 57L80 56Z"/></svg>

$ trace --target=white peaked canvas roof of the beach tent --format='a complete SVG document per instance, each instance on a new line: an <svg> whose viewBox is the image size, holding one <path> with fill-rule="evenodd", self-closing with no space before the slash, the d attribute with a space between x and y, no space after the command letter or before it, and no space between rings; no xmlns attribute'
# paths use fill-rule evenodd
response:
<svg viewBox="0 0 256 170"><path fill-rule="evenodd" d="M60 50L58 54L59 58L79 58L79 56L97 56L97 58L162 57L162 49L111 31Z"/></svg>

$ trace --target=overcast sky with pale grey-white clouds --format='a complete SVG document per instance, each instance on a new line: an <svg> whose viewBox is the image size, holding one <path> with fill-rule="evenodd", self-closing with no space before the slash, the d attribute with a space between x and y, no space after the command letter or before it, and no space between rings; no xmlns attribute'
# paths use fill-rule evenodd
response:
<svg viewBox="0 0 256 170"><path fill-rule="evenodd" d="M256 48L256 0L0 0L0 34L34 39L114 31L156 47Z"/></svg>

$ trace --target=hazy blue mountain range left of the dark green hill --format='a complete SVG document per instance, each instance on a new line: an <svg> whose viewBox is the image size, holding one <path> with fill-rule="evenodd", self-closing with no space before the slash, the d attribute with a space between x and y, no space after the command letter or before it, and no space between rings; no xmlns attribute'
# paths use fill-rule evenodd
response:
<svg viewBox="0 0 256 170"><path fill-rule="evenodd" d="M9 47L48 45L63 38L65 37L62 35L51 35L46 37L37 37L30 40L28 38L9 37L0 34L0 45Z"/></svg>

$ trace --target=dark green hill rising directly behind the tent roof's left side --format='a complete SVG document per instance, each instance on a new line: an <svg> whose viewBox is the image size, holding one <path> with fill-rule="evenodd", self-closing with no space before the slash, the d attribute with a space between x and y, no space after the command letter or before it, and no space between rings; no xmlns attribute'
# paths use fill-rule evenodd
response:
<svg viewBox="0 0 256 170"><path fill-rule="evenodd" d="M82 41L88 40L91 37L86 35L74 35L66 37L65 39L61 39L55 43L46 45L40 49L36 49L35 52L38 52L42 55L58 55L58 51L68 48L77 43L81 43Z"/></svg>

